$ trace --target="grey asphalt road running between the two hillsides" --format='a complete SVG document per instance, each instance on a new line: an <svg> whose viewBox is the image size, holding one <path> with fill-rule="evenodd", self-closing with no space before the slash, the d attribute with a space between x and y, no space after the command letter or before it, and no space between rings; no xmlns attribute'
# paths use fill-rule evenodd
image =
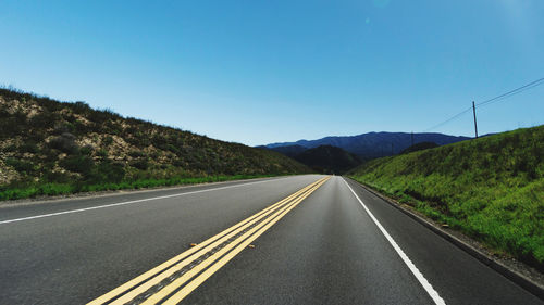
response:
<svg viewBox="0 0 544 305"><path fill-rule="evenodd" d="M0 304L88 303L274 203L277 214L247 227L262 231L250 247L234 236L215 249L243 250L211 263L183 304L544 304L348 179L281 202L321 178L0 208Z"/></svg>

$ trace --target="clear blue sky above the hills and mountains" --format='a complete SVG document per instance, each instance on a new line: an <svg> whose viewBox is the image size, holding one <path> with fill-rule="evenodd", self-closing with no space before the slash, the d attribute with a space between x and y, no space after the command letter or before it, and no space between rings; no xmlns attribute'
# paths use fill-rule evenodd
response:
<svg viewBox="0 0 544 305"><path fill-rule="evenodd" d="M250 145L423 131L544 77L542 0L0 0L0 29L4 86ZM544 86L478 114L544 124Z"/></svg>

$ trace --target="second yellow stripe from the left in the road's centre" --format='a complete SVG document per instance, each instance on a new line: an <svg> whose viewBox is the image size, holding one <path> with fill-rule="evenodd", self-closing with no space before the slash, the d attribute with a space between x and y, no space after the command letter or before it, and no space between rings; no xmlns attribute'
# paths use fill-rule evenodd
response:
<svg viewBox="0 0 544 305"><path fill-rule="evenodd" d="M320 179L318 181L316 181L314 183L310 185L309 187L314 187L317 183L319 183L320 181L322 181L323 179ZM307 188L304 188L302 189L304 191L308 191L308 190L311 190L311 189L307 189ZM304 192L302 192L304 193ZM296 192L295 194L300 194L300 191ZM279 203L284 203L284 204L288 204L288 202L290 202L290 199L296 199L296 196L288 196L287 203L285 203L284 201L280 201ZM279 207L279 206L282 206L282 204L274 204L273 205L274 207ZM267 208L265 209L267 212L274 212L275 209L274 208ZM125 295L119 297L118 300L113 301L111 304L112 305L118 305L118 304L125 304L127 302L129 302L131 300L133 300L134 297L136 297L137 295L139 295L140 293L147 291L148 289L150 289L151 287L160 283L162 280L169 278L170 276L172 276L173 274L180 271L183 267L189 265L190 263L193 263L195 259L197 259L198 257L200 257L201 255L206 254L207 252L211 251L212 249L214 249L215 246L222 244L223 242L227 241L228 239L231 239L232 237L238 234L239 232L244 231L246 228L252 226L254 224L258 223L259 220L265 218L265 217L269 217L269 215L271 215L270 213L267 214L267 213L258 213L260 214L259 217L256 217L256 218L252 218L250 221L246 223L245 225L238 227L238 228L235 228L235 230L228 232L227 234L223 236L222 238L215 240L213 243L210 243L208 244L206 247L202 247L200 251L191 254L190 256L188 256L187 258L183 259L182 262L177 263L176 265L170 267L169 269L162 271L161 274L159 274L158 276L156 276L154 278L152 278L151 280L145 282L144 284L139 285L138 288L132 290L131 292L126 293ZM251 218L251 217L249 217ZM212 238L213 239L213 238Z"/></svg>

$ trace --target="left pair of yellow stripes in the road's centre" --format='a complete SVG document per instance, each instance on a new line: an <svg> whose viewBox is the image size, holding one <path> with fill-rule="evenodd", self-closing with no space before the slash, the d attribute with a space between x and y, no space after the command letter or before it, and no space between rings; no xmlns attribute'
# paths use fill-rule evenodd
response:
<svg viewBox="0 0 544 305"><path fill-rule="evenodd" d="M267 217L268 215L270 215L271 212L273 212L274 209L276 209L279 206L283 205L283 204L286 204L288 203L289 201L296 199L297 196L299 196L300 194L304 194L306 191L312 189L314 186L317 186L318 183L324 181L325 179L327 179L326 177L325 178L322 178L322 179L319 179L318 181L313 182L313 183L310 183L309 186L300 189L299 191L293 193L292 195L281 200L280 202L277 203L274 203L272 204L271 206L262 209L261 212L239 221L238 224L230 227L228 229L225 229L223 230L222 232L213 236L212 238L209 238L208 240L201 242L200 244L198 244L197 246L194 246L185 252L183 252L182 254L166 260L165 263L152 268L151 270L149 271L146 271L144 272L143 275L134 278L133 280L118 287L116 289L103 294L102 296L91 301L88 303L88 305L97 305L97 304L104 304L104 303L108 303L110 302L111 300L118 297L119 295L122 295L123 293L125 293L126 291L137 287L138 284L147 281L148 279L150 278L153 278L154 276L172 268L173 266L177 266L177 264L181 264L182 259L184 259L184 262L186 259L188 259L188 257L193 257L196 255L196 253L206 253L208 252L209 250L213 249L215 245L214 244L218 244L218 241L219 240L226 240L224 239L225 236L234 236L232 234L233 231L240 231L240 227L245 227L247 228L248 226L250 226L249 224L255 224L256 221L262 219L263 217ZM227 238L228 239L228 238ZM208 250L209 249L209 250ZM198 255L200 256L200 255ZM147 282L146 282L147 283ZM146 284L145 283L145 284ZM140 285L140 287L144 287ZM138 294L140 292L144 292L146 291L147 289L144 289L144 288L140 288L138 287L137 289L134 289L133 291L131 291L129 293L127 293L127 295L132 295L132 296L135 296L137 295L134 291L138 291ZM149 284L145 285L145 287L150 287ZM131 301L132 298L127 300L127 297L120 297L119 300L115 300L115 302L113 304L118 304L118 303L121 303L121 301L124 301L123 303L125 302L128 302ZM118 302L120 301L120 302ZM122 303L121 303L122 304Z"/></svg>

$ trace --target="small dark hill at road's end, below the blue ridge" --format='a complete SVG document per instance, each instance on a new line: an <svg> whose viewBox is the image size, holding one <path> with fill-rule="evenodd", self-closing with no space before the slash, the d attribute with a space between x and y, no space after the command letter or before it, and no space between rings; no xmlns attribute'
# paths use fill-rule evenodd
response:
<svg viewBox="0 0 544 305"><path fill-rule="evenodd" d="M320 145L305 150L295 155L294 158L316 171L336 175L344 174L361 164L361 160L357 155L332 145Z"/></svg>

